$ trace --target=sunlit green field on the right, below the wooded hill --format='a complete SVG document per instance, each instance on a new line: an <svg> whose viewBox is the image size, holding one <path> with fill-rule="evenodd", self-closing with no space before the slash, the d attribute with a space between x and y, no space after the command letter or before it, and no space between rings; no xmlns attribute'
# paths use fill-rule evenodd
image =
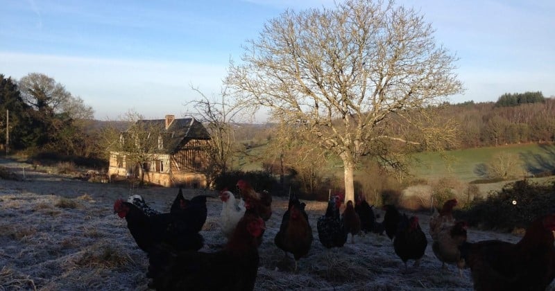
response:
<svg viewBox="0 0 555 291"><path fill-rule="evenodd" d="M411 173L425 179L456 177L463 182L483 179L477 169L499 152L518 155L524 170L532 175L555 169L555 145L525 144L451 150L443 152L445 157L439 152L422 152L415 155L420 163L411 168Z"/></svg>

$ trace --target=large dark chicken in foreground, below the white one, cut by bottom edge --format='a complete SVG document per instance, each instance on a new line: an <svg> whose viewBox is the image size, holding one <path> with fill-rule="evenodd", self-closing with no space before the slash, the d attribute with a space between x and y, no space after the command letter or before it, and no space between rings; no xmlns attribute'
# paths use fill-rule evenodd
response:
<svg viewBox="0 0 555 291"><path fill-rule="evenodd" d="M246 211L218 252L175 252L157 247L149 257L148 287L155 290L253 290L258 272L257 238L264 221Z"/></svg>

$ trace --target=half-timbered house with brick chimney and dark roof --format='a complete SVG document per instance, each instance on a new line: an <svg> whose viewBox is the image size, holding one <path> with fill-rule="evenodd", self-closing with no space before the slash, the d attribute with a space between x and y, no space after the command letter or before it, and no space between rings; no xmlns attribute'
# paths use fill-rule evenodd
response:
<svg viewBox="0 0 555 291"><path fill-rule="evenodd" d="M167 115L164 119L139 120L137 125L153 129L146 135L155 142L149 143L151 149L141 159L125 150L110 152L109 175L140 177L145 182L168 187L206 186L204 173L209 161L206 148L210 134L202 123L195 118ZM134 142L137 143L137 138L133 132L121 133L120 143Z"/></svg>

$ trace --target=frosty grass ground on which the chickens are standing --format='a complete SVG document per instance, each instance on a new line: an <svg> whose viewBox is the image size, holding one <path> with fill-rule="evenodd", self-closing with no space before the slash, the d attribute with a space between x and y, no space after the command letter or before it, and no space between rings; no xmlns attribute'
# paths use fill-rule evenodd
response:
<svg viewBox="0 0 555 291"><path fill-rule="evenodd" d="M22 166L0 160L23 177ZM129 184L101 184L36 173L28 168L24 180L0 179L0 290L148 290L146 255L130 235L126 220L113 213L114 200L142 195L159 211L169 211L176 188L133 188ZM187 198L204 190L186 190ZM301 197L302 198L302 197ZM302 200L302 199L301 199ZM355 243L325 249L318 240L316 220L325 202L307 203L314 241L309 254L293 272L293 258L284 259L273 238L287 207L274 197L273 215L266 224L255 290L472 290L469 270L459 276L447 270L432 252L429 213L418 215L429 245L420 267L408 272L386 236L355 236ZM208 218L201 231L203 252L225 243L219 229L222 202L207 201ZM382 214L381 211L377 213ZM381 218L379 219L381 220ZM520 240L510 233L469 229L468 240ZM225 274L214 274L225 276ZM549 286L555 290L555 283Z"/></svg>

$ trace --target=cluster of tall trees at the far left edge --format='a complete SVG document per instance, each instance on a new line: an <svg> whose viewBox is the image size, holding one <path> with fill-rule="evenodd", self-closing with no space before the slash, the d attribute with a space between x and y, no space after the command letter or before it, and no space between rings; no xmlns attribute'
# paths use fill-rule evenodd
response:
<svg viewBox="0 0 555 291"><path fill-rule="evenodd" d="M0 143L9 150L95 155L94 111L43 73L0 74Z"/></svg>

